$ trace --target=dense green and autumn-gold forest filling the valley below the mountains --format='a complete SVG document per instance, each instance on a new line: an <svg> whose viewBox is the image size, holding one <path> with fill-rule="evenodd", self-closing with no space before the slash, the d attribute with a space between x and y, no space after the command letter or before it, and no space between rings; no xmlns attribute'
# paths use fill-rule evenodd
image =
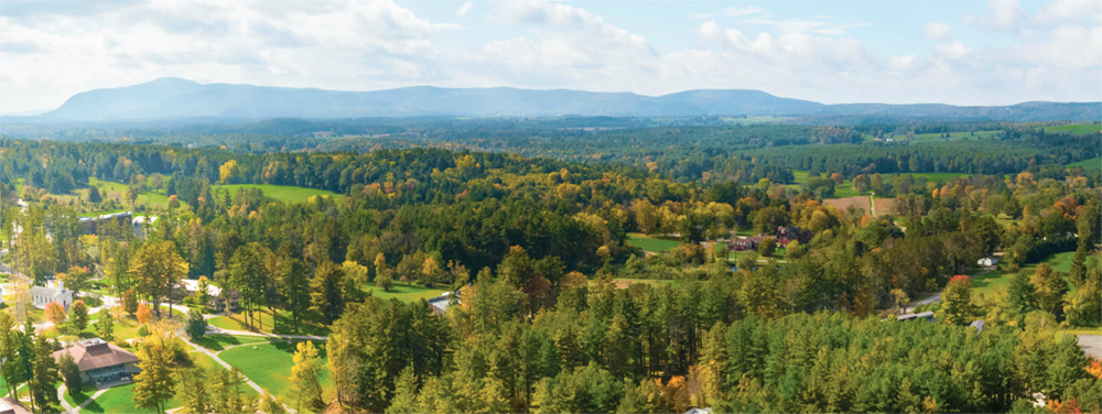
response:
<svg viewBox="0 0 1102 414"><path fill-rule="evenodd" d="M287 329L324 329L332 394L288 396L307 411L1102 410L1098 362L1057 334L1102 326L1102 176L1061 165L1092 157L1098 137L921 128L994 127L909 144L864 138L887 127L659 126L310 138L294 152L242 150L246 135L226 149L9 139L0 226L15 272L101 290L132 317L179 305L174 284L193 279L236 291L250 328L285 312ZM910 175L927 172L970 175ZM890 211L828 203L846 181ZM126 188L121 204L102 183ZM248 185L337 195L289 203ZM139 201L150 193L168 203ZM95 236L78 224L120 208L159 219ZM789 226L810 237L727 251ZM629 233L680 246L645 252ZM1037 265L1072 251L1068 272ZM995 252L1016 275L973 292L961 275ZM395 286L454 294L446 312L372 294ZM941 290L937 323L895 320ZM17 346L40 339L0 339L6 360L40 363ZM28 372L0 370L9 384ZM47 382L31 384L44 406Z"/></svg>

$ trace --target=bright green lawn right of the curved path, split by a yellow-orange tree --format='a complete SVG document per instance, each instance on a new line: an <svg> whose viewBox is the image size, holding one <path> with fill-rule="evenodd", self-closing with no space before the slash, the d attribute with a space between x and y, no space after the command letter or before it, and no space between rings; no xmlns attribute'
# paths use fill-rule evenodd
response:
<svg viewBox="0 0 1102 414"><path fill-rule="evenodd" d="M322 363L325 363L325 344L314 342L318 347L318 355ZM288 342L260 344L253 347L237 347L218 355L227 363L240 368L252 382L267 390L272 395L283 395L284 400L290 399L291 367L294 366L292 357L294 348ZM326 400L332 396L333 381L329 380L328 371L323 370L322 388L325 390Z"/></svg>

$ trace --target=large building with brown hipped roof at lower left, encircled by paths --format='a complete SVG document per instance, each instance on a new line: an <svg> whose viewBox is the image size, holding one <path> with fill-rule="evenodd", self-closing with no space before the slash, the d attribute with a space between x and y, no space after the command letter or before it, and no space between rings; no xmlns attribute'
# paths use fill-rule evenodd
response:
<svg viewBox="0 0 1102 414"><path fill-rule="evenodd" d="M140 372L138 357L99 338L80 340L56 351L54 360L61 361L66 353L73 357L80 370L80 379L90 381L97 388L129 382L130 375Z"/></svg>

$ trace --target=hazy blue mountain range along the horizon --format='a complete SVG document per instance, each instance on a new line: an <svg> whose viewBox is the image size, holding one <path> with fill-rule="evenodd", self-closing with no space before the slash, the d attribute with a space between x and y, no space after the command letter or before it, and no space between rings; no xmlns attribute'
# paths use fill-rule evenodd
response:
<svg viewBox="0 0 1102 414"><path fill-rule="evenodd" d="M36 117L6 118L4 121L54 123L181 119L557 116L776 116L828 119L865 117L1079 121L1102 119L1102 102L1026 102L1004 107L958 107L941 103L823 105L745 89L688 90L659 97L568 89L430 86L376 91L335 91L252 85L203 85L185 79L163 78L130 87L77 94L56 110Z"/></svg>

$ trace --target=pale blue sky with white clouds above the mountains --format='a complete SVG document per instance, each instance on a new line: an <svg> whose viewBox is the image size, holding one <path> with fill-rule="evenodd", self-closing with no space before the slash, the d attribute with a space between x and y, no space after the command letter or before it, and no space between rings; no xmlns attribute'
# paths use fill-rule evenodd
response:
<svg viewBox="0 0 1102 414"><path fill-rule="evenodd" d="M1102 0L0 0L0 113L161 77L1099 101Z"/></svg>

